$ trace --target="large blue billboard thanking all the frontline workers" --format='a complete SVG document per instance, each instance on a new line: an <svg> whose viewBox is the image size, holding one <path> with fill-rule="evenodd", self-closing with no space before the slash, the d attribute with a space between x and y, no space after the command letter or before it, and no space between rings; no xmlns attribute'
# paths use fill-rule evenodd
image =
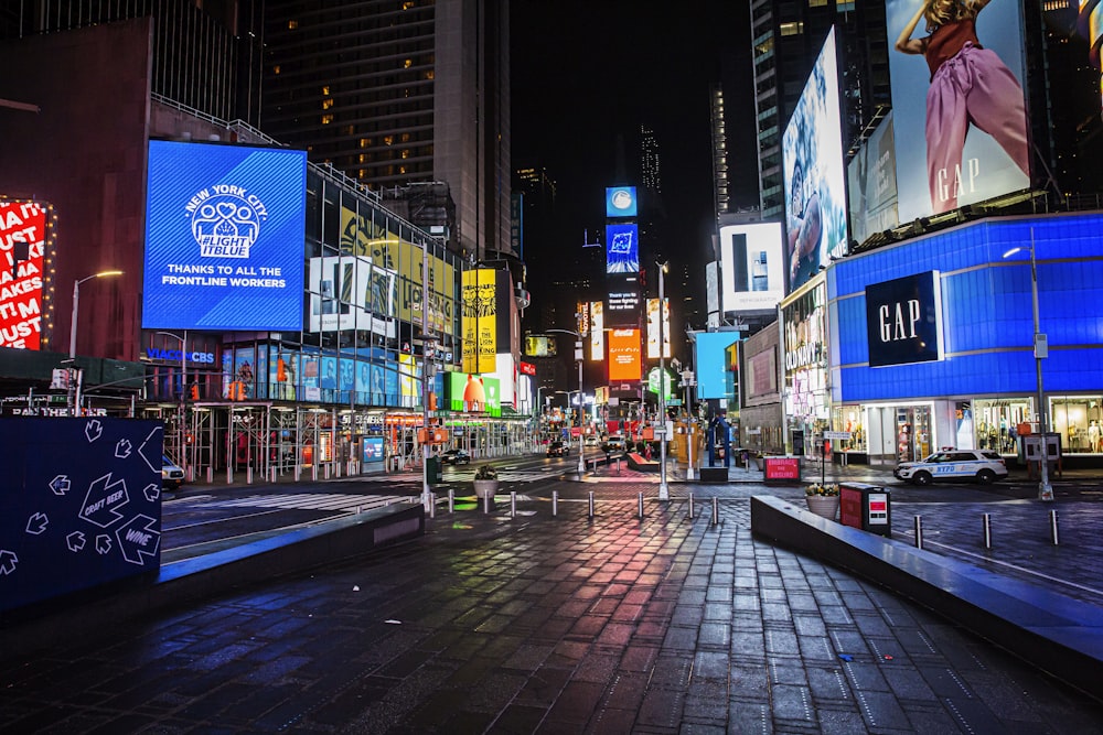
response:
<svg viewBox="0 0 1103 735"><path fill-rule="evenodd" d="M149 141L142 326L302 328L307 153Z"/></svg>

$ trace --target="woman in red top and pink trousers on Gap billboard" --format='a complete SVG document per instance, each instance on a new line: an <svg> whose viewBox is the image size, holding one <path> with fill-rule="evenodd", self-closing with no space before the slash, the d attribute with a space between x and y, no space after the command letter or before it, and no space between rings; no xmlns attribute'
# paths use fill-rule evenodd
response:
<svg viewBox="0 0 1103 735"><path fill-rule="evenodd" d="M906 54L922 54L931 67L927 91L927 173L933 214L957 207L962 150L970 125L993 137L1022 173L1030 176L1027 115L1022 87L996 52L976 36L976 17L988 0L923 0L897 39ZM920 19L929 35L912 39Z"/></svg>

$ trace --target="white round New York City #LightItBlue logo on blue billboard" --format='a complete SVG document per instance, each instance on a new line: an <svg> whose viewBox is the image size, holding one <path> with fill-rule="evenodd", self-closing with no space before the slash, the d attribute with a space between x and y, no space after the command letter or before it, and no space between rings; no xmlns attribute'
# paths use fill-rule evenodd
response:
<svg viewBox="0 0 1103 735"><path fill-rule="evenodd" d="M242 186L215 184L192 195L184 207L203 258L248 258L268 218L268 208Z"/></svg>

